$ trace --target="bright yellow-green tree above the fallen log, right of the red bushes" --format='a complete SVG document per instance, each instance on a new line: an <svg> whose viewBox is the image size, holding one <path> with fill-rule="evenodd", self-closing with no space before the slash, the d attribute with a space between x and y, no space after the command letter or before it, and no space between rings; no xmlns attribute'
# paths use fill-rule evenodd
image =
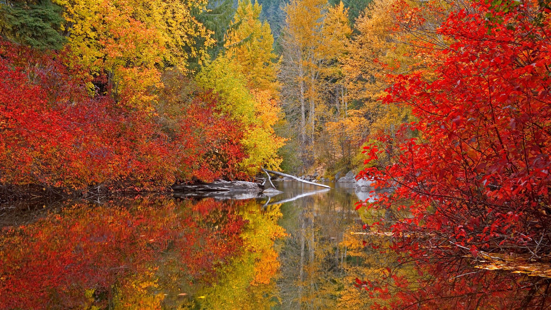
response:
<svg viewBox="0 0 551 310"><path fill-rule="evenodd" d="M243 165L247 173L257 173L263 165L278 169L277 150L283 139L273 130L278 121L279 85L277 56L272 52L269 24L260 21L262 7L250 0L239 2L232 30L226 34L226 55L199 74L199 84L222 95L229 111L245 124L244 146L249 157Z"/></svg>

